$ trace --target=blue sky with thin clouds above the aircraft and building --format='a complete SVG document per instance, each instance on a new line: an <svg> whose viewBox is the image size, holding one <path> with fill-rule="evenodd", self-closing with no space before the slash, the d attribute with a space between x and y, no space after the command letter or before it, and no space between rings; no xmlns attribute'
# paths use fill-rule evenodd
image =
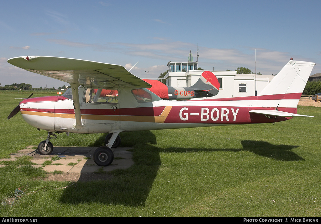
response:
<svg viewBox="0 0 321 224"><path fill-rule="evenodd" d="M169 61L277 74L290 60L321 73L321 1L1 1L0 83L67 85L7 59L43 55L118 64L157 78ZM149 71L148 73L145 71Z"/></svg>

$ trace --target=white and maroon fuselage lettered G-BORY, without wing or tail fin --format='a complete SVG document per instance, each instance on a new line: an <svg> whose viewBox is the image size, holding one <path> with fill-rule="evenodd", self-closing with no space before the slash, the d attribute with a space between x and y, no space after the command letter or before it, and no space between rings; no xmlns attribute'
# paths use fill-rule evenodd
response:
<svg viewBox="0 0 321 224"><path fill-rule="evenodd" d="M284 95L253 96L218 100L190 100L139 103L131 89L122 88L113 104L86 103L86 88L80 88L79 100L83 127L75 129L73 100L64 96L30 98L20 103L23 119L30 125L49 132L107 133L114 130L157 130L188 127L266 123L289 118L268 118L250 110L279 109L295 113L297 99ZM280 105L280 101L282 104Z"/></svg>

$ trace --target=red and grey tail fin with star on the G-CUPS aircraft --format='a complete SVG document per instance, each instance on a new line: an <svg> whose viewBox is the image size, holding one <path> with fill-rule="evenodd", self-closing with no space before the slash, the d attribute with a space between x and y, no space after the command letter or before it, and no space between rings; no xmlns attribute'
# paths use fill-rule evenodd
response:
<svg viewBox="0 0 321 224"><path fill-rule="evenodd" d="M206 91L215 96L219 92L220 83L212 72L204 71L197 82L190 88Z"/></svg>

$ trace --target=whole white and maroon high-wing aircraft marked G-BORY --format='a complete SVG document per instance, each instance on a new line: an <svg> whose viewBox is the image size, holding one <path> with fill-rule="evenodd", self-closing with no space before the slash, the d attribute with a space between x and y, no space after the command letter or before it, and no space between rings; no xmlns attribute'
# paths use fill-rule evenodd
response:
<svg viewBox="0 0 321 224"><path fill-rule="evenodd" d="M109 133L106 146L97 148L93 155L99 166L112 163L111 148L119 145L118 134L123 131L274 123L310 117L297 114L297 105L315 65L291 58L257 96L169 101L147 90L150 84L120 65L46 56L17 57L8 62L71 85L61 96L30 95L8 119L20 111L31 126L48 131L47 139L38 146L43 155L52 152L49 140L56 138L56 133Z"/></svg>

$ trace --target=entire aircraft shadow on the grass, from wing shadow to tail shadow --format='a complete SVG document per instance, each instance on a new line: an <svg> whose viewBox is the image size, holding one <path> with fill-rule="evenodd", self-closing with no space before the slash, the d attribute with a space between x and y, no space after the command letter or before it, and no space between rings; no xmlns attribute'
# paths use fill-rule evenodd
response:
<svg viewBox="0 0 321 224"><path fill-rule="evenodd" d="M156 144L156 137L151 131L139 131L135 132L135 134L131 133L122 133L121 138L122 146L124 147L128 147L128 144L137 142L134 145L135 163L133 166L125 170L119 169L108 174L102 174L111 175L111 178L108 180L78 181L76 187L68 187L64 190L60 201L62 203L72 204L98 202L102 204L144 206L161 164L160 148L148 144ZM138 138L138 136L143 136L143 138ZM296 153L290 151L298 146L273 145L265 141L253 140L242 140L241 144L243 148L162 148L161 151L180 153L188 151L238 152L247 150L256 155L280 161L304 160Z"/></svg>

